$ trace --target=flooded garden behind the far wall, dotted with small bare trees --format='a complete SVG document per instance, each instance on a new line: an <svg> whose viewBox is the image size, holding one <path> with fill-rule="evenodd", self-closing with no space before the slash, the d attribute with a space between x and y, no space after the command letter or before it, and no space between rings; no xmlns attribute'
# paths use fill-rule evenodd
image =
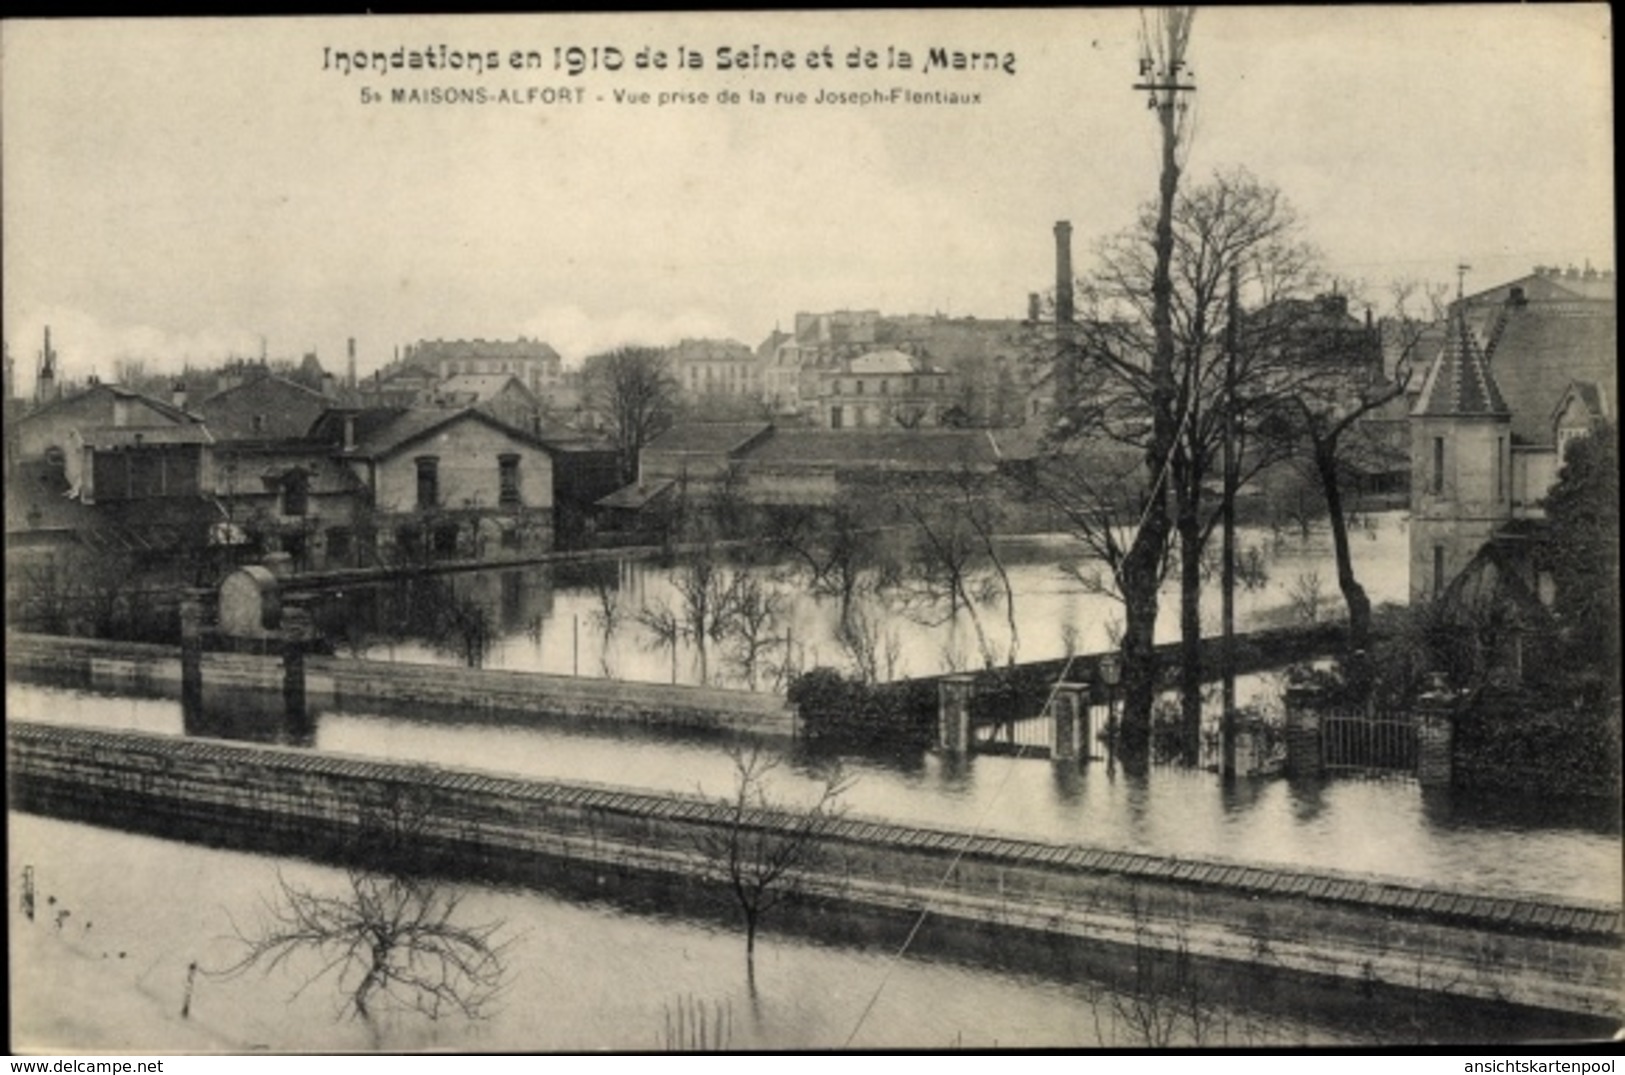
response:
<svg viewBox="0 0 1625 1075"><path fill-rule="evenodd" d="M1355 573L1373 604L1409 599L1407 515L1388 512L1365 516L1350 534ZM855 601L860 622L873 625L871 641L881 654L879 679L931 676L947 669L982 667L985 659L1003 664L1061 658L1071 653L1100 653L1112 646L1121 627L1121 606L1069 572L1079 555L1077 542L1064 534L1034 534L1001 541L1001 559L1014 591L1016 628L1009 609L996 591L991 572L972 578L970 589L990 599L951 617L947 606L908 586L882 594L860 594ZM1240 630L1280 627L1315 615L1341 614L1337 572L1331 534L1315 529L1305 539L1243 529L1243 555L1256 549L1266 578L1237 591ZM1089 576L1089 565L1081 567ZM852 669L853 656L840 641L840 602L808 591L804 575L786 563L756 565L765 588L777 594L778 611L757 669L757 687L774 684L775 669L791 664L819 664ZM676 650L645 627L639 612L679 606L674 580L681 568L650 562L616 560L603 563L533 565L523 568L470 572L450 576L465 599L486 609L494 640L483 656L484 667L564 676L614 676L645 682L700 682L700 661L687 640ZM1162 594L1157 620L1159 641L1178 638L1178 580ZM436 646L411 632L387 630L388 612L379 586L356 586L330 594L328 615L341 630L354 632L340 640L346 656L426 664L458 663L455 645ZM1217 578L1202 594L1204 633L1219 633ZM741 687L746 674L733 646L710 643L705 671L713 685ZM788 654L788 661L786 661Z"/></svg>

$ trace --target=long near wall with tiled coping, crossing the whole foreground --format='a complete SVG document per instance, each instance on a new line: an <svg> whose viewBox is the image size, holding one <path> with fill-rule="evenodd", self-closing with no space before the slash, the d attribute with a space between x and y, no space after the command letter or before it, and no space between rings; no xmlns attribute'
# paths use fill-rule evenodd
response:
<svg viewBox="0 0 1625 1075"><path fill-rule="evenodd" d="M528 781L286 747L11 723L13 805L107 825L193 825L306 853L353 838L369 810L410 796L422 840L460 875L538 879L559 862L618 874L704 877L704 836L730 823L717 802ZM774 840L798 818L752 812ZM916 914L941 929L1006 930L1363 986L1618 1018L1620 908L1402 880L1133 854L977 836L858 817L816 828L803 896Z"/></svg>

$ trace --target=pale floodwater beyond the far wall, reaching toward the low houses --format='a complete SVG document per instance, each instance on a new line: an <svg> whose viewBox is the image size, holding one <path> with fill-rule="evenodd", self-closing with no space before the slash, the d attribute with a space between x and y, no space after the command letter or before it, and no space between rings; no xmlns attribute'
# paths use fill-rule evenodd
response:
<svg viewBox="0 0 1625 1075"><path fill-rule="evenodd" d="M1406 601L1409 596L1409 546L1404 513L1372 516L1372 539L1354 546L1355 568L1373 602ZM1329 578L1331 542L1316 531L1306 541L1274 542L1268 533L1246 531L1243 546L1271 546L1266 585L1237 596L1237 622L1243 630L1279 625L1290 609L1294 583L1303 576ZM1001 542L1019 622L1022 661L1051 659L1069 651L1094 653L1110 645L1120 607L1092 593L1061 565L1076 559L1076 544L1066 538L1029 536ZM840 601L808 591L804 578L790 560L764 560L760 549L739 552L734 570L754 573L782 602L774 635L783 654L801 667L850 666L852 656L840 641ZM351 656L427 664L460 663L465 654L457 640L436 630L432 609L419 591L448 588L457 599L483 609L492 638L481 654L486 667L507 671L578 676L619 676L645 682L700 680L708 669L713 684L743 682L739 669L726 667L715 653L702 661L687 641L676 648L658 645L639 624L639 611L660 604L676 606L676 572L650 560L580 560L466 572L434 580L351 585L323 594L315 615L323 633ZM1217 581L1204 593L1209 615L1219 607ZM1178 637L1178 589L1164 591L1159 641ZM434 604L434 602L429 602ZM941 609L918 602L864 596L866 615L895 638L892 679L926 676L947 666L980 666L980 637L999 659L1017 640L1001 614L980 614L980 630L964 615L949 617ZM1206 625L1209 633L1217 622ZM887 638L878 641L886 643ZM1243 698L1245 702L1245 698Z"/></svg>

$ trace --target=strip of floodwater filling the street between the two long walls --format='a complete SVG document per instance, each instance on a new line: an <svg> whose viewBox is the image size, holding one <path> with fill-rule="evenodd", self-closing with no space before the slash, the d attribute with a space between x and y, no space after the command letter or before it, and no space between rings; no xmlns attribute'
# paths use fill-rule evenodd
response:
<svg viewBox="0 0 1625 1075"><path fill-rule="evenodd" d="M424 708L341 711L312 695L309 727L289 726L280 697L210 695L200 721L172 700L8 684L8 711L62 723L162 734L229 736L340 753L458 765L541 779L585 779L679 794L733 788L728 732L668 734L640 726ZM811 799L827 750L780 747L774 794ZM1152 766L1115 775L1102 763L1058 766L1011 757L848 757L853 814L904 823L1176 856L1363 870L1422 882L1617 901L1617 804L1425 792L1410 781L1253 779Z"/></svg>

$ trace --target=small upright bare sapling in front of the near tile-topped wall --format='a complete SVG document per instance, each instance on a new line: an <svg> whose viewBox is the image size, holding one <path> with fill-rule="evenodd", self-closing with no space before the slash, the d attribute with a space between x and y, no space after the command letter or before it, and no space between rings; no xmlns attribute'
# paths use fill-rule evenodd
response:
<svg viewBox="0 0 1625 1075"><path fill-rule="evenodd" d="M819 833L845 812L840 797L852 779L840 768L826 773L817 799L786 809L767 794L767 778L780 758L759 745L730 750L733 794L720 799L723 817L697 841L705 874L731 893L744 919L744 958L756 981L756 932L762 917L793 896L819 861Z"/></svg>

